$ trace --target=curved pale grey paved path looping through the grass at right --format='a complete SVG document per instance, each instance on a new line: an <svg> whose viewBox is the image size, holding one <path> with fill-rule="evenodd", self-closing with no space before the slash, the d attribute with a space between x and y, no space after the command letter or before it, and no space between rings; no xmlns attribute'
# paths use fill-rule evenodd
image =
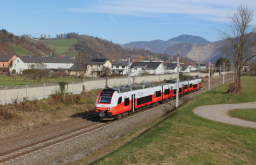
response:
<svg viewBox="0 0 256 165"><path fill-rule="evenodd" d="M230 110L252 109L252 108L256 109L256 102L200 106L200 107L196 107L193 111L196 115L201 116L203 118L207 118L209 120L256 129L255 122L241 120L239 118L234 118L228 115L228 111Z"/></svg>

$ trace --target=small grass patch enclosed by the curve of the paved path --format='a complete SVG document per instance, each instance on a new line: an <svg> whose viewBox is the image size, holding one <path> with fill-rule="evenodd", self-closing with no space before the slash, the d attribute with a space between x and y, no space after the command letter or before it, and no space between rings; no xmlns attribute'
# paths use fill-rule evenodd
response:
<svg viewBox="0 0 256 165"><path fill-rule="evenodd" d="M229 111L228 114L235 118L256 122L256 109L235 109Z"/></svg>

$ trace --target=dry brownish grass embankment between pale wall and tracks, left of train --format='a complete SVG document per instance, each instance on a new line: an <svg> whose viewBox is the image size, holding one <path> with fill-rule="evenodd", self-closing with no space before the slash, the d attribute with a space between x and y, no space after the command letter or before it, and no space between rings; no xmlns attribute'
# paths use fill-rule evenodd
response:
<svg viewBox="0 0 256 165"><path fill-rule="evenodd" d="M0 138L92 114L101 90L66 97L57 93L42 100L13 100L12 104L0 105Z"/></svg>

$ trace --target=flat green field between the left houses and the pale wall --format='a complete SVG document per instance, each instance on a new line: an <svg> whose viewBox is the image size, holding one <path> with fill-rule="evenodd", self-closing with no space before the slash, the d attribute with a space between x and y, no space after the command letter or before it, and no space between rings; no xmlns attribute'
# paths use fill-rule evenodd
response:
<svg viewBox="0 0 256 165"><path fill-rule="evenodd" d="M36 81L36 84L44 83L56 83L59 81L81 81L81 79L70 79L70 78L47 78L41 79L40 82ZM26 76L7 76L0 75L0 86L17 86L17 85L26 85L26 84L35 84L34 80Z"/></svg>

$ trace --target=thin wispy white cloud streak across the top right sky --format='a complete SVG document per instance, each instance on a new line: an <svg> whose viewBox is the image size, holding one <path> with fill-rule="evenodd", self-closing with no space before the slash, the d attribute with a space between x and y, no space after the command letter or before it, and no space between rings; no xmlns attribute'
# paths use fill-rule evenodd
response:
<svg viewBox="0 0 256 165"><path fill-rule="evenodd" d="M248 4L250 8L256 8L255 1L231 1L231 0L102 0L104 8L109 14L133 15L140 17L161 17L163 14L184 14L198 19L207 19L216 22L227 20L228 13L234 13L241 3ZM99 3L87 6L87 8L67 8L69 12L105 13Z"/></svg>

